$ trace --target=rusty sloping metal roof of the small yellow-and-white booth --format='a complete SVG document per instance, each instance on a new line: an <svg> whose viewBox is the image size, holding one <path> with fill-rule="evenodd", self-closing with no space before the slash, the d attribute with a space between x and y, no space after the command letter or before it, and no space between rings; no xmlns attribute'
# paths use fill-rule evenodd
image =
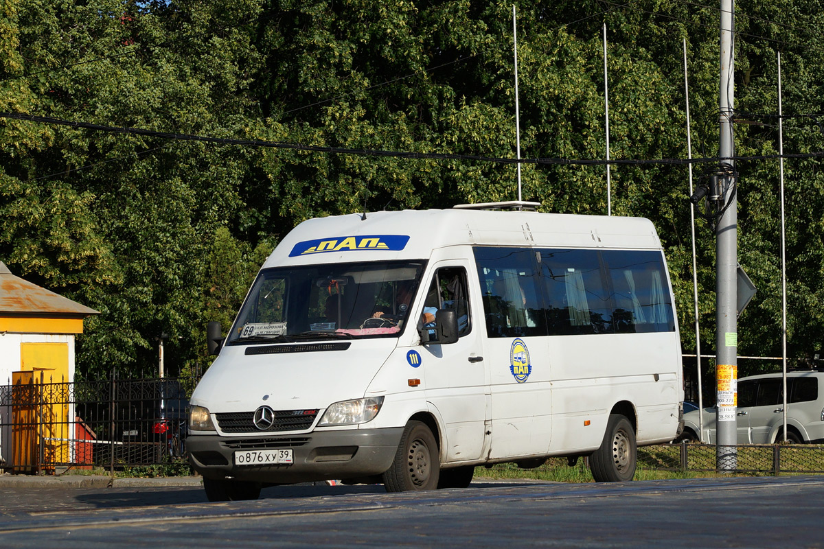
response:
<svg viewBox="0 0 824 549"><path fill-rule="evenodd" d="M59 316L88 316L100 314L95 309L55 294L36 284L15 277L0 261L0 314L56 314Z"/></svg>

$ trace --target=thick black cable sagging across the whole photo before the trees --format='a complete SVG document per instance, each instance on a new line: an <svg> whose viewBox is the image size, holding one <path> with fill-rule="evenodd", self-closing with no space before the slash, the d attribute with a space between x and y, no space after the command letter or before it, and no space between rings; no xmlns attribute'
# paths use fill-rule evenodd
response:
<svg viewBox="0 0 824 549"><path fill-rule="evenodd" d="M661 158L661 159L611 159L609 161L600 159L569 159L569 158L503 158L480 155L459 155L452 153L438 152L413 152L413 151L384 151L379 149L353 149L347 147L322 147L317 145L302 145L300 143L270 142L260 139L228 139L224 137L204 137L190 133L168 133L157 132L140 128L116 128L102 124L92 124L86 122L72 122L69 120L54 119L45 116L34 116L21 113L0 113L0 118L26 120L35 123L48 123L68 126L71 128L83 128L101 132L122 133L141 135L147 137L160 137L162 139L174 139L180 141L207 142L216 145L234 145L239 147L262 147L274 149L286 149L292 151L327 152L332 154L349 154L356 156L382 156L414 160L445 160L445 161L482 161L494 164L533 164L533 165L690 165L690 164L718 164L719 157L703 157L692 159ZM760 156L734 156L736 161L761 161L775 160L779 158L822 158L824 151L815 151L798 154L784 155L760 155ZM726 157L723 160L728 160Z"/></svg>

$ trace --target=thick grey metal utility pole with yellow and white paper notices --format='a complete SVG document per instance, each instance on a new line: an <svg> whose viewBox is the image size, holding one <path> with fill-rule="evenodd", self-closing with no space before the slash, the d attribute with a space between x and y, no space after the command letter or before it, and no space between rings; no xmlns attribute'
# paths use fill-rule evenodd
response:
<svg viewBox="0 0 824 549"><path fill-rule="evenodd" d="M737 468L736 405L738 370L737 333L737 203L733 172L733 0L721 0L720 30L720 147L721 163L728 170L719 179L719 207L723 210L715 228L715 373L717 381L718 415L716 426L716 468L732 471ZM744 418L746 419L746 418Z"/></svg>

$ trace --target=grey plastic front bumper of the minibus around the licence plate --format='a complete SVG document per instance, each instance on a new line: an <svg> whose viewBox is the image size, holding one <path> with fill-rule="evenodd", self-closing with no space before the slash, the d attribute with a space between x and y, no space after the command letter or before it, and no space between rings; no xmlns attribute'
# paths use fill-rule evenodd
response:
<svg viewBox="0 0 824 549"><path fill-rule="evenodd" d="M306 435L194 435L186 439L189 462L204 477L291 484L379 475L390 468L403 427L313 431ZM293 449L290 465L236 466L238 450Z"/></svg>

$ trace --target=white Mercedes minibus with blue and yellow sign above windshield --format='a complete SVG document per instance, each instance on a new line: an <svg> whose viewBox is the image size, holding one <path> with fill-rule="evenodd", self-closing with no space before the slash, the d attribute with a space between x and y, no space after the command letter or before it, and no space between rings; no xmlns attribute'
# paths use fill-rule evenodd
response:
<svg viewBox="0 0 824 549"><path fill-rule="evenodd" d="M645 219L502 211L304 221L260 269L190 399L209 500L340 479L466 487L587 456L634 476L681 429L681 346ZM497 208L497 209L483 209Z"/></svg>

